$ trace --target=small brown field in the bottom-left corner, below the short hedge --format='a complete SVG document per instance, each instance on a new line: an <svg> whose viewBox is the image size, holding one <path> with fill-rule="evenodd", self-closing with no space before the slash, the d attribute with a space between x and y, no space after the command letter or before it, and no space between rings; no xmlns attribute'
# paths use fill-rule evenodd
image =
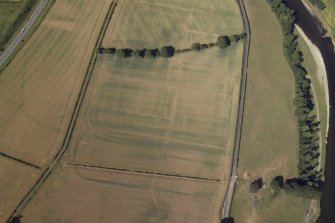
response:
<svg viewBox="0 0 335 223"><path fill-rule="evenodd" d="M40 171L0 156L0 222L5 222Z"/></svg>

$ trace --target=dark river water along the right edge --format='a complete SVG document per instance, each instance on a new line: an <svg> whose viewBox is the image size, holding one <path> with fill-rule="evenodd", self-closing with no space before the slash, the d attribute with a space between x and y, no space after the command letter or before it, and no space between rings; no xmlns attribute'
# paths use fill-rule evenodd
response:
<svg viewBox="0 0 335 223"><path fill-rule="evenodd" d="M335 222L335 53L329 38L323 38L323 28L303 5L301 0L286 0L295 10L297 24L304 30L308 38L320 49L326 66L329 87L329 130L326 148L325 188L321 198L321 215L318 223Z"/></svg>

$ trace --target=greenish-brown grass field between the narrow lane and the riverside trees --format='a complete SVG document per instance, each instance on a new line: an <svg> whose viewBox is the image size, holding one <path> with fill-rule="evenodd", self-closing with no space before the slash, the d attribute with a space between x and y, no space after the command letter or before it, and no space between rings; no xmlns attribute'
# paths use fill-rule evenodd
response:
<svg viewBox="0 0 335 223"><path fill-rule="evenodd" d="M266 0L245 4L252 36L238 165L240 181L232 216L236 222L303 222L308 200L284 193L275 197L269 187L277 175L297 176L293 73L283 53L280 25ZM258 177L263 178L265 188L254 195L249 192L249 182Z"/></svg>

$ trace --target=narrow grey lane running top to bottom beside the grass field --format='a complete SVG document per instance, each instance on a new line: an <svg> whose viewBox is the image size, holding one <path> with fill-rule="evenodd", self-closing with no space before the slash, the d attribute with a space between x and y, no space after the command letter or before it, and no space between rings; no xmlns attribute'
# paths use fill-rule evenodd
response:
<svg viewBox="0 0 335 223"><path fill-rule="evenodd" d="M241 86L240 86L240 98L239 98L238 114L237 114L238 116L236 120L233 161L232 161L232 167L231 167L232 169L231 169L230 183L229 183L225 201L222 207L222 218L229 217L231 202L233 199L235 183L237 179L236 173L237 173L238 155L239 155L239 150L240 150L242 118L243 118L243 110L244 110L245 89L246 89L246 83L247 83L248 56L249 56L249 46L250 46L250 27L249 27L248 16L247 16L247 13L244 7L243 0L237 0L237 2L241 10L241 14L243 17L244 32L247 34L247 37L244 43L243 62L242 62L242 79L241 79Z"/></svg>

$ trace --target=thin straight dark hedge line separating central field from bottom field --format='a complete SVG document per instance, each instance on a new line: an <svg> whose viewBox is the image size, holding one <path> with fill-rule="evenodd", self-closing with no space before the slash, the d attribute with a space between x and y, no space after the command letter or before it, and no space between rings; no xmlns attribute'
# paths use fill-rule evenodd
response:
<svg viewBox="0 0 335 223"><path fill-rule="evenodd" d="M160 173L153 171L143 171L143 170L132 170L125 168L116 168L116 167L104 167L104 166L96 166L89 164L80 164L80 163L65 163L64 166L75 166L80 168L87 168L93 170L104 170L104 171L112 171L118 173L130 173L130 174L140 174L140 175L149 175L149 176L160 176L160 177L170 177L170 178L178 178L178 179L188 179L188 180L197 180L197 181L209 181L209 182L224 182L220 179L215 178L206 178L206 177L196 177L196 176L187 176L187 175L179 175L179 174L171 174L171 173Z"/></svg>

